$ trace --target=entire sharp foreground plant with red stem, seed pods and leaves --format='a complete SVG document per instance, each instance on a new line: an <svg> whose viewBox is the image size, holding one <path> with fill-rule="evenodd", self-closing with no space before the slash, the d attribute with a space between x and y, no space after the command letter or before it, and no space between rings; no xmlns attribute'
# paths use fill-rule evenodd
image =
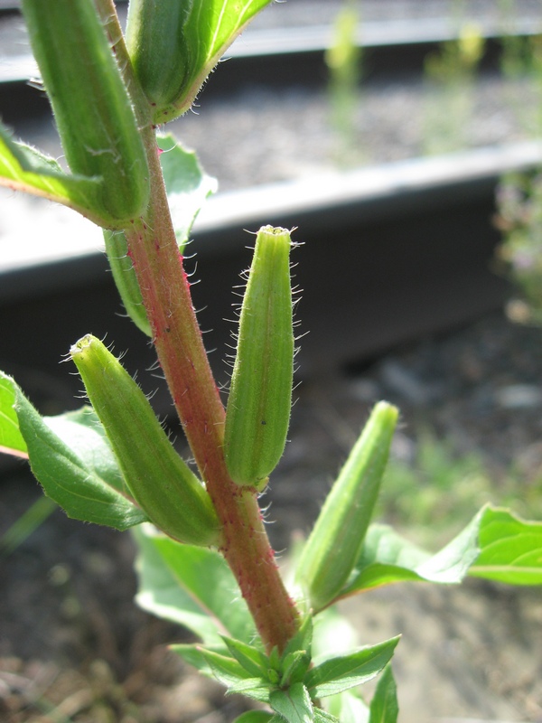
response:
<svg viewBox="0 0 542 723"><path fill-rule="evenodd" d="M131 529L138 603L185 625L174 650L257 700L237 723L395 723L397 646L345 649L341 598L403 580L466 575L542 584L542 523L483 507L435 555L371 523L397 408L379 402L286 584L258 496L285 446L294 358L290 231L265 226L243 297L226 408L192 306L182 251L214 182L156 124L190 108L220 55L268 0L23 0L70 171L0 136L0 181L79 211L105 231L126 311L152 339L191 446L177 455L147 399L91 335L70 348L90 405L42 417L0 376L0 446L27 456L75 519ZM359 687L383 671L369 704Z"/></svg>

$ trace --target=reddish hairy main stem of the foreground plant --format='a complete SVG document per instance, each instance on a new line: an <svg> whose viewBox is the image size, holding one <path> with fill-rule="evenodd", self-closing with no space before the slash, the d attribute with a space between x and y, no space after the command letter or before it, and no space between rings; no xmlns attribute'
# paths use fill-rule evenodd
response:
<svg viewBox="0 0 542 723"><path fill-rule="evenodd" d="M182 427L222 524L229 563L267 650L282 651L299 614L266 535L256 493L229 478L223 455L225 411L210 370L167 205L154 133L149 151L152 201L126 230L129 254L154 333L154 345ZM152 136L152 139L151 139Z"/></svg>

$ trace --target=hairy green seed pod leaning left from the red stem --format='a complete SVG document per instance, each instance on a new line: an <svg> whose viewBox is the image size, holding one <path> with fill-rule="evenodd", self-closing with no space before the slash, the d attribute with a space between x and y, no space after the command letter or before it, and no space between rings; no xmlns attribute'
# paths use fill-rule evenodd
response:
<svg viewBox="0 0 542 723"><path fill-rule="evenodd" d="M156 527L192 545L219 542L220 524L195 474L177 455L132 377L92 335L70 349L135 501Z"/></svg>

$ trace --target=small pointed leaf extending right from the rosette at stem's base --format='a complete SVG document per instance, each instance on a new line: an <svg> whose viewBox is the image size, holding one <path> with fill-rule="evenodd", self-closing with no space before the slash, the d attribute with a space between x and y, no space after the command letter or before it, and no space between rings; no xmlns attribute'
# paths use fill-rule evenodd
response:
<svg viewBox="0 0 542 723"><path fill-rule="evenodd" d="M305 677L313 698L325 698L370 681L390 661L399 637L316 665Z"/></svg>

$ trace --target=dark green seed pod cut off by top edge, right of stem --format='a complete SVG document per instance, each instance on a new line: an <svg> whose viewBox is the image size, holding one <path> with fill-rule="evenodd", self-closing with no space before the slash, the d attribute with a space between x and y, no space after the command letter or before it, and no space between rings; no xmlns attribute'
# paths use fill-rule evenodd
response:
<svg viewBox="0 0 542 723"><path fill-rule="evenodd" d="M154 113L182 95L188 72L183 27L193 0L130 0L126 47Z"/></svg>

